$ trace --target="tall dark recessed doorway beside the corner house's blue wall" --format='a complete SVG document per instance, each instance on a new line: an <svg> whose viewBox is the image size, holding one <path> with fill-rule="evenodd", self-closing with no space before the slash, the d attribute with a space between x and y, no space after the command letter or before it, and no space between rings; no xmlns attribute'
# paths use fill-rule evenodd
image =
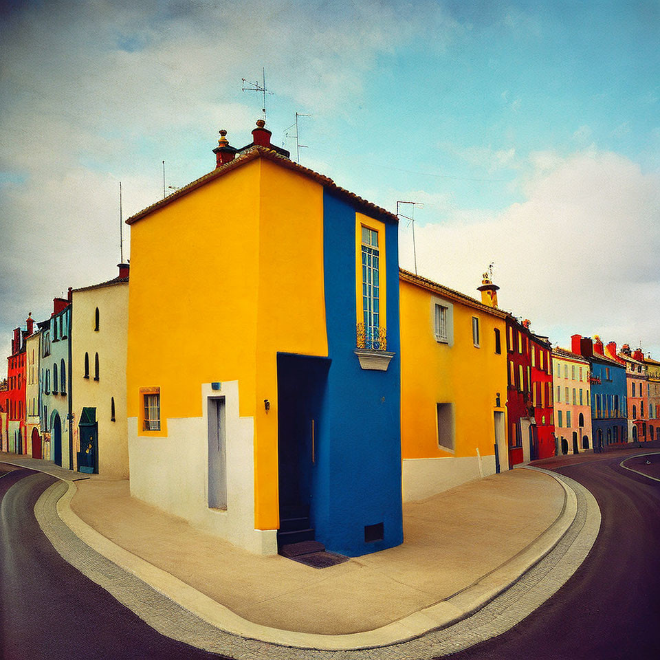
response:
<svg viewBox="0 0 660 660"><path fill-rule="evenodd" d="M277 449L281 519L310 512L318 437L330 360L277 356Z"/></svg>

